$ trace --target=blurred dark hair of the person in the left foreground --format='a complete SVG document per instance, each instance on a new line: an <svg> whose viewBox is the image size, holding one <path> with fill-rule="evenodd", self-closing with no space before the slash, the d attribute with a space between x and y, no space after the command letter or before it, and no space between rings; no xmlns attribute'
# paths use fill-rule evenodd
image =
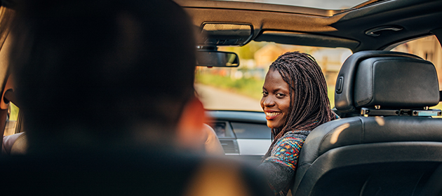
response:
<svg viewBox="0 0 442 196"><path fill-rule="evenodd" d="M175 2L18 2L11 65L29 146L74 132L173 134L196 62L192 24Z"/></svg>

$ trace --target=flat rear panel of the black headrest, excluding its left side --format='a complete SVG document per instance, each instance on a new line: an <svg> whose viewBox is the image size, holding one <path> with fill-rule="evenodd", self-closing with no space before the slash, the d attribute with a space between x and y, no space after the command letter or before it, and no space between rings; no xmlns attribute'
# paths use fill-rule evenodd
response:
<svg viewBox="0 0 442 196"><path fill-rule="evenodd" d="M359 63L354 106L423 109L438 104L438 90L437 73L431 62L410 57L371 57Z"/></svg>

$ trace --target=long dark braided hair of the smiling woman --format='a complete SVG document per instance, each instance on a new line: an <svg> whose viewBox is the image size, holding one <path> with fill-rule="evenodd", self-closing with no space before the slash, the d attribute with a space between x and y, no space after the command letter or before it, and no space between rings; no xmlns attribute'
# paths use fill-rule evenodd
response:
<svg viewBox="0 0 442 196"><path fill-rule="evenodd" d="M335 119L327 96L326 78L311 55L302 52L286 52L276 59L269 70L277 70L290 89L290 106L286 123L281 129L272 129L272 145L264 159L272 153L272 146L286 132L313 130ZM318 123L314 123L318 120Z"/></svg>

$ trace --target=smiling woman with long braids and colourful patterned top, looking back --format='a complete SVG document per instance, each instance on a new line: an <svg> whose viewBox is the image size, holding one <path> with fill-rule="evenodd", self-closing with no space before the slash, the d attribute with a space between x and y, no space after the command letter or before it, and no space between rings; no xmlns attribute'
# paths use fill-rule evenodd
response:
<svg viewBox="0 0 442 196"><path fill-rule="evenodd" d="M315 59L287 52L269 67L262 86L261 106L273 142L260 169L275 195L286 196L293 184L297 158L315 127L338 118L330 108L326 79Z"/></svg>

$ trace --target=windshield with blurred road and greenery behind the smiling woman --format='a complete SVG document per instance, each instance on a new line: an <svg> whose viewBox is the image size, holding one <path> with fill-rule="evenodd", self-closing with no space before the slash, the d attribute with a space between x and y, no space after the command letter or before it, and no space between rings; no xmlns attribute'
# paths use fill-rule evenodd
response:
<svg viewBox="0 0 442 196"><path fill-rule="evenodd" d="M262 84L270 64L285 52L300 51L312 55L326 76L328 97L334 106L337 73L351 50L252 41L243 47L220 47L236 52L237 68L205 67L196 69L196 92L208 110L262 111Z"/></svg>

